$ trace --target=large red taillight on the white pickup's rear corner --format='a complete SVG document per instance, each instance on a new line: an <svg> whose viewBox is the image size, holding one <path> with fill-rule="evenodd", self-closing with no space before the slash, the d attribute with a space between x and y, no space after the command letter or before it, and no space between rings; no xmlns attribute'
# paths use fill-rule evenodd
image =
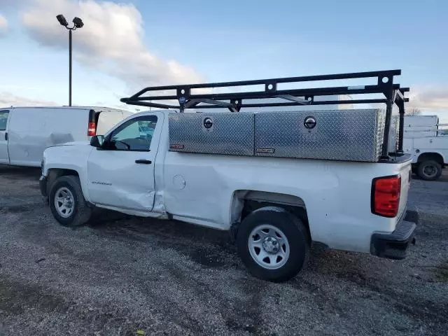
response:
<svg viewBox="0 0 448 336"><path fill-rule="evenodd" d="M372 181L372 214L395 217L400 206L401 176L378 177Z"/></svg>

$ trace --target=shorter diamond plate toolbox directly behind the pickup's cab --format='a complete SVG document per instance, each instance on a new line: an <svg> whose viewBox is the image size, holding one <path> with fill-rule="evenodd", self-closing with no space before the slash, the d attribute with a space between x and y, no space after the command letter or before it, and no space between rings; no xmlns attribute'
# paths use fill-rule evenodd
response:
<svg viewBox="0 0 448 336"><path fill-rule="evenodd" d="M169 151L253 156L254 113L169 113Z"/></svg>

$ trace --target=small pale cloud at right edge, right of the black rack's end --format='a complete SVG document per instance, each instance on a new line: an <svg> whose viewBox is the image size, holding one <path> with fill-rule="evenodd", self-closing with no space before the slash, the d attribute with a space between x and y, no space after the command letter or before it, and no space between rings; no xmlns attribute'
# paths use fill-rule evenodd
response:
<svg viewBox="0 0 448 336"><path fill-rule="evenodd" d="M409 92L407 109L448 110L448 87L421 87Z"/></svg>

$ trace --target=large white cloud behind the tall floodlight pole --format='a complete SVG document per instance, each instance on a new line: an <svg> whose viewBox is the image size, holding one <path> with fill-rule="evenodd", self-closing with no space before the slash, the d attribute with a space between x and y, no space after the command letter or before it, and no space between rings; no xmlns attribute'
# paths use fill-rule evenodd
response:
<svg viewBox="0 0 448 336"><path fill-rule="evenodd" d="M143 85L197 83L202 77L190 66L161 59L144 44L144 22L134 5L94 0L34 0L22 10L31 38L50 48L66 48L67 34L55 16L63 13L85 23L73 34L78 62L120 78L133 89Z"/></svg>

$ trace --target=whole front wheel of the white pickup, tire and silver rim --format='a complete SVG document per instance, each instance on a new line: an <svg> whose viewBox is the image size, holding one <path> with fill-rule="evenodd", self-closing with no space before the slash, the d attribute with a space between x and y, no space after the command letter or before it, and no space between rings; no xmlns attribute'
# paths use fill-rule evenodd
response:
<svg viewBox="0 0 448 336"><path fill-rule="evenodd" d="M83 225L92 214L78 176L59 177L51 186L49 203L56 221L64 226Z"/></svg>

